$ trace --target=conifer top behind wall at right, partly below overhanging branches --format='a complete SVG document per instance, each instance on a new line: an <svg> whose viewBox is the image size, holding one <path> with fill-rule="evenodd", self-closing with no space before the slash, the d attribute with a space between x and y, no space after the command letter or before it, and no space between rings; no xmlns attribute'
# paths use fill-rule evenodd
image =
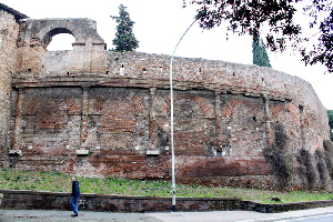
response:
<svg viewBox="0 0 333 222"><path fill-rule="evenodd" d="M260 39L259 34L253 34L252 42L252 56L253 56L253 64L260 67L272 67L270 63L268 51L264 47L262 39Z"/></svg>

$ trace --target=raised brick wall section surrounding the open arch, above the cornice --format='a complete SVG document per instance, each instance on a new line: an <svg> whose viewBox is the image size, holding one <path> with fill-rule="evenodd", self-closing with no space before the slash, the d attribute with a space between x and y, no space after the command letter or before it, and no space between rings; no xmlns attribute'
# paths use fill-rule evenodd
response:
<svg viewBox="0 0 333 222"><path fill-rule="evenodd" d="M33 77L71 75L104 71L104 41L90 19L43 19L20 22L18 74ZM59 57L46 48L58 33L75 38L73 51ZM71 63L69 67L68 63Z"/></svg>

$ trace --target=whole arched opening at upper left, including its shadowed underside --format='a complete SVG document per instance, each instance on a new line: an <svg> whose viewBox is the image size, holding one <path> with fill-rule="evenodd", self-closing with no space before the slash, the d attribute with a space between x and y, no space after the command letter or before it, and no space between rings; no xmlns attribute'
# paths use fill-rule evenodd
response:
<svg viewBox="0 0 333 222"><path fill-rule="evenodd" d="M75 42L75 38L72 32L64 28L53 29L44 38L48 51L72 50L73 42Z"/></svg>

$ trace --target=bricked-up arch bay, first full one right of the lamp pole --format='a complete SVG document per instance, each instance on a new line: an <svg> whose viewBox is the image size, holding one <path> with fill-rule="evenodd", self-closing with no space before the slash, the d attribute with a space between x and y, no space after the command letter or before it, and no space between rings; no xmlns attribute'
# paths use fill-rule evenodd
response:
<svg viewBox="0 0 333 222"><path fill-rule="evenodd" d="M223 107L223 151L229 155L258 155L264 148L263 107L256 98L234 95ZM232 149L232 152L229 150Z"/></svg>

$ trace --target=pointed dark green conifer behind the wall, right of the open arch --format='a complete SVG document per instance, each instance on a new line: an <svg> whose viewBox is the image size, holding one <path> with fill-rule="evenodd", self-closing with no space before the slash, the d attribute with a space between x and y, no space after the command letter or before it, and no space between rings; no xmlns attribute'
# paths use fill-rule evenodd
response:
<svg viewBox="0 0 333 222"><path fill-rule="evenodd" d="M119 6L119 17L111 17L118 23L115 38L113 44L115 46L114 51L134 51L139 47L139 41L133 33L133 22L130 19L129 12L125 10L127 7L123 4Z"/></svg>

